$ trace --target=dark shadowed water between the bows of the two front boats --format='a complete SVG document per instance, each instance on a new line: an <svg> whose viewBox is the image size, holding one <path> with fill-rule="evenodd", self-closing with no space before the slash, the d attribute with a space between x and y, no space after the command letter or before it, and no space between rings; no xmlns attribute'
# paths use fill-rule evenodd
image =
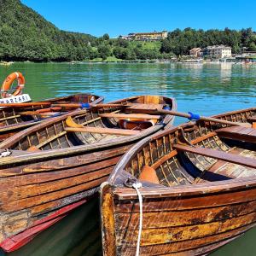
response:
<svg viewBox="0 0 256 256"><path fill-rule="evenodd" d="M99 201L90 200L8 256L101 256Z"/></svg>

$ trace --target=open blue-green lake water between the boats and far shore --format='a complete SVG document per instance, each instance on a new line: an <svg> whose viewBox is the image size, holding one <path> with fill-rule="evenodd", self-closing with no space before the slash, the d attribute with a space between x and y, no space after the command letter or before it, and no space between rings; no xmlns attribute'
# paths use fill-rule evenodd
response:
<svg viewBox="0 0 256 256"><path fill-rule="evenodd" d="M106 101L138 94L175 96L178 110L204 115L255 104L256 65L15 63L0 67L0 80L20 70L34 100L89 91Z"/></svg>

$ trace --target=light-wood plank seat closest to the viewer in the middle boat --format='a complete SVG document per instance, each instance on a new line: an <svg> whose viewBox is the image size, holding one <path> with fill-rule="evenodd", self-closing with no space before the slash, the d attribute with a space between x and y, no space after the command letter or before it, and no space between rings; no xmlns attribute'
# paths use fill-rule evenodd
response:
<svg viewBox="0 0 256 256"><path fill-rule="evenodd" d="M102 134L113 134L113 135L124 135L124 136L136 135L137 133L140 132L135 130L112 129L112 128L89 127L89 126L66 127L65 131L102 133Z"/></svg>

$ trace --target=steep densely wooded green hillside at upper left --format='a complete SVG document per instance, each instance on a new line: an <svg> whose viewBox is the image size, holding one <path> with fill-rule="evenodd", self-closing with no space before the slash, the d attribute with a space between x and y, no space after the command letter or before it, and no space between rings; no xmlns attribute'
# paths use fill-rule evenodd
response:
<svg viewBox="0 0 256 256"><path fill-rule="evenodd" d="M90 59L94 37L64 32L19 0L0 0L0 59L69 61ZM92 55L92 56L91 56Z"/></svg>

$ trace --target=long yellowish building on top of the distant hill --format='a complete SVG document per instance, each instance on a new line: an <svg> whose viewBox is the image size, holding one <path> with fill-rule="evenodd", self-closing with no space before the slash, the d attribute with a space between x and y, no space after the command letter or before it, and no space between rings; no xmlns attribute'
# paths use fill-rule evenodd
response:
<svg viewBox="0 0 256 256"><path fill-rule="evenodd" d="M119 36L125 40L136 41L158 41L167 38L168 32L143 32L143 33L129 33L128 36Z"/></svg>

